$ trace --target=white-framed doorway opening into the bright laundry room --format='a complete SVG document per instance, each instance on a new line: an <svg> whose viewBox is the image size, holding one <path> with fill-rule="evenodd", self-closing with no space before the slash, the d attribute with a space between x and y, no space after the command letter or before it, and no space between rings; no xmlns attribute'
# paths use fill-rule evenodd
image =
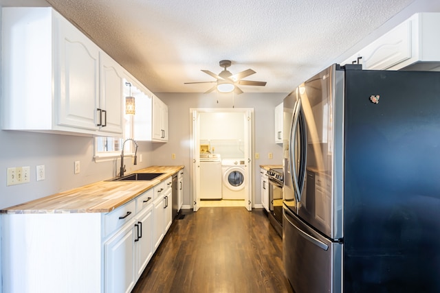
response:
<svg viewBox="0 0 440 293"><path fill-rule="evenodd" d="M236 161L234 166L239 172L234 172L243 176L243 189L236 187L229 190L227 198L243 198L241 206L252 210L252 199L254 194L254 167L253 167L253 129L254 129L254 109L252 108L190 108L190 173L192 180L190 190L192 194L192 207L197 211L203 207L201 194L201 161L200 154L215 153L222 156L225 161ZM225 162L223 161L223 163ZM222 164L223 164L222 163ZM222 165L221 186L228 167ZM233 177L232 175L230 177ZM228 186L226 183L225 186ZM203 201L204 202L204 201ZM238 202L238 200L237 200ZM228 206L237 204L231 201L219 201L218 206ZM209 202L205 206L216 204Z"/></svg>

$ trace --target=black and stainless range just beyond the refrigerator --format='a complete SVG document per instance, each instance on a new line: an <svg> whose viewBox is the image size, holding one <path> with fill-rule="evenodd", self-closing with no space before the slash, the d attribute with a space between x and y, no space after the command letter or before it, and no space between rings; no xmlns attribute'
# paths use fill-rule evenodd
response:
<svg viewBox="0 0 440 293"><path fill-rule="evenodd" d="M269 178L269 220L276 232L283 237L283 168L271 168Z"/></svg>

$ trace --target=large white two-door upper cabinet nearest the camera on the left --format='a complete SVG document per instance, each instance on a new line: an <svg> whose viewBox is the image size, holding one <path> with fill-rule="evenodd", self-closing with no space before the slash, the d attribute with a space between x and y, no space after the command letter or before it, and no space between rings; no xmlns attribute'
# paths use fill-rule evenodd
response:
<svg viewBox="0 0 440 293"><path fill-rule="evenodd" d="M122 68L52 8L3 8L3 129L122 134Z"/></svg>

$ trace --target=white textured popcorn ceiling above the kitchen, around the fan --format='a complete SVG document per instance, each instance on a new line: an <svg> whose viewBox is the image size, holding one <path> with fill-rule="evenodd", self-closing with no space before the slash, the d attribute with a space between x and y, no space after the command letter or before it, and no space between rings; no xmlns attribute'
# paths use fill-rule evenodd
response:
<svg viewBox="0 0 440 293"><path fill-rule="evenodd" d="M223 59L267 82L243 91L289 93L412 1L47 0L155 93L203 93L210 84L184 82L213 80L200 70Z"/></svg>

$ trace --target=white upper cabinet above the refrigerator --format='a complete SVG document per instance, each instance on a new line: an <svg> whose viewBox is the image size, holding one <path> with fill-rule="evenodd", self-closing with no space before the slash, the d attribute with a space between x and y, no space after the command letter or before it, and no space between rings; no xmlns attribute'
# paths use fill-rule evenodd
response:
<svg viewBox="0 0 440 293"><path fill-rule="evenodd" d="M439 27L439 13L414 14L341 64L357 63L359 60L362 69L438 71Z"/></svg>

